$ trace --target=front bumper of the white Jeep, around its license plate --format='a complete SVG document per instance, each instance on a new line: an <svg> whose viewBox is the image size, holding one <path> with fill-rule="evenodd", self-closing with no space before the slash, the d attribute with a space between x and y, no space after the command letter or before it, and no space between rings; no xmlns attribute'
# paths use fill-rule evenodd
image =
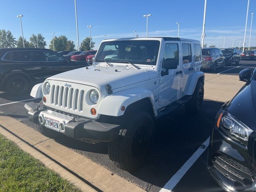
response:
<svg viewBox="0 0 256 192"><path fill-rule="evenodd" d="M28 112L28 120L31 122L44 126L44 122L40 123L38 117L47 116L64 123L65 129L60 130L60 133L86 142L110 142L116 139L120 132L120 125L71 116L56 110L38 107L38 104L34 102L26 103L25 109Z"/></svg>

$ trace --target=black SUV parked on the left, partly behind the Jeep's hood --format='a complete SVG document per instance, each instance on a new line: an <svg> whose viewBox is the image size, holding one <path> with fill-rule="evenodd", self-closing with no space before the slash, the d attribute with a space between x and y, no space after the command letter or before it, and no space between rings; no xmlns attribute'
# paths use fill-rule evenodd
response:
<svg viewBox="0 0 256 192"><path fill-rule="evenodd" d="M23 94L32 84L69 70L88 66L86 62L68 61L49 49L0 49L0 87L12 94Z"/></svg>

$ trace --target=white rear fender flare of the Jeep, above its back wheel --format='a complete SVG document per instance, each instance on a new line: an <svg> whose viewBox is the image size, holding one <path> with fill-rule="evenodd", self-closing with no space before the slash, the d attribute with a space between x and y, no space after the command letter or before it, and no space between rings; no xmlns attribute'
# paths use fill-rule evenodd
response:
<svg viewBox="0 0 256 192"><path fill-rule="evenodd" d="M189 78L188 78L188 81L187 81L187 84L186 84L186 87L184 89L184 93L186 95L193 95L194 93L194 90L196 88L196 84L197 84L197 81L200 77L203 77L204 78L204 72L202 71L197 71L195 72L194 74L190 75ZM188 83L190 82L190 83ZM203 83L204 83L204 79L203 79Z"/></svg>

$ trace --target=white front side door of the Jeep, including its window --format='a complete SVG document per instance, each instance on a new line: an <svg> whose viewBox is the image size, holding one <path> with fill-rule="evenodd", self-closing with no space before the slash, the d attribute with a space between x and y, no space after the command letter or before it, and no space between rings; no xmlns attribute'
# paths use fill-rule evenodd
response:
<svg viewBox="0 0 256 192"><path fill-rule="evenodd" d="M166 41L164 43L164 51L162 58L178 60L177 69L166 70L163 67L160 76L159 98L158 104L160 106L168 105L180 98L180 83L181 83L181 54L180 41Z"/></svg>

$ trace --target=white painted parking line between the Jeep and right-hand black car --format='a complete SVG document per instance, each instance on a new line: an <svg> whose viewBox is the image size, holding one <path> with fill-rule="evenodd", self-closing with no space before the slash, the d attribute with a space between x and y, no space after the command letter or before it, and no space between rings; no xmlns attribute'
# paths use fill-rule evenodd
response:
<svg viewBox="0 0 256 192"><path fill-rule="evenodd" d="M210 137L194 152L194 154L186 161L186 163L170 178L170 180L164 185L159 192L171 192L173 188L178 184L180 179L186 174L190 167L196 162L201 154L209 146Z"/></svg>

